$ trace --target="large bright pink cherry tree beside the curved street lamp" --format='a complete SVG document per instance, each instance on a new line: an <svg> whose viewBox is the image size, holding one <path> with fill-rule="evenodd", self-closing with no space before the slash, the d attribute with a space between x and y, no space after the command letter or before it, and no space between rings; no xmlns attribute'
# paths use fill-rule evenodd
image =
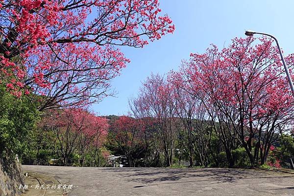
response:
<svg viewBox="0 0 294 196"><path fill-rule="evenodd" d="M291 56L287 58L290 63ZM225 125L230 137L239 140L251 165L257 163L259 154L264 163L276 133L289 124L294 111L272 40L236 38L221 51L213 46L205 54L191 57L182 68L190 87L207 106L214 107L219 123ZM252 153L256 136L258 141Z"/></svg>

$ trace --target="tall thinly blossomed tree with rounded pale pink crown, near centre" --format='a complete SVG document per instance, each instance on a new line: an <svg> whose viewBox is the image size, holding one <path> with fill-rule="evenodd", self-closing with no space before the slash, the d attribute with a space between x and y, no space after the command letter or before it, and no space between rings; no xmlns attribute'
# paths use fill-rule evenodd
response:
<svg viewBox="0 0 294 196"><path fill-rule="evenodd" d="M172 87L167 84L164 77L152 74L147 77L139 90L138 97L134 98L131 103L132 110L136 110L138 116L153 122L154 131L156 131L162 145L167 166L172 165L177 138L174 101ZM154 146L159 152L155 142Z"/></svg>

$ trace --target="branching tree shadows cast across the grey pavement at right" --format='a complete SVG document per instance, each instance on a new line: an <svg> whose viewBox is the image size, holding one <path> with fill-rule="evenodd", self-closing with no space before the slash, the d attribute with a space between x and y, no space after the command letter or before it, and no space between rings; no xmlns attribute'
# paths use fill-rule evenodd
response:
<svg viewBox="0 0 294 196"><path fill-rule="evenodd" d="M200 182L200 181L212 181L214 183L234 183L241 179L258 179L258 178L288 178L294 177L292 174L287 176L275 176L274 172L265 172L252 169L173 169L165 168L109 168L103 172L111 172L117 177L123 177L124 180L131 182L139 182L147 185L135 186L134 188L140 188L145 186L153 186L160 184L172 184L172 183L187 183L187 182ZM198 178L201 178L198 180ZM186 180L185 180L186 179ZM189 180L191 179L191 180ZM197 179L197 180L196 180ZM185 181L180 181L185 180ZM173 181L173 182L169 182ZM156 183L163 182L163 183ZM156 183L156 184L151 184Z"/></svg>

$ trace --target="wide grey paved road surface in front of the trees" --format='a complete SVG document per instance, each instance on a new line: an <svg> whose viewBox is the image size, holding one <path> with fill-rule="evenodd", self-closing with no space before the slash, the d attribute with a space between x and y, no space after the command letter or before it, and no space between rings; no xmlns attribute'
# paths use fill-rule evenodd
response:
<svg viewBox="0 0 294 196"><path fill-rule="evenodd" d="M294 196L294 174L245 169L23 166L73 184L68 196Z"/></svg>

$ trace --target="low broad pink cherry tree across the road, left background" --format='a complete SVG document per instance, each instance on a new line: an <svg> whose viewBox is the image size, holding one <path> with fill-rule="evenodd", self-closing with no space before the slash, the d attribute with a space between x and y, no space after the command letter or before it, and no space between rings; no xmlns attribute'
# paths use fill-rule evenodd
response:
<svg viewBox="0 0 294 196"><path fill-rule="evenodd" d="M75 150L79 150L84 159L90 145L101 146L107 135L108 121L84 109L63 109L53 110L43 119L42 127L55 133L57 154L67 166Z"/></svg>

